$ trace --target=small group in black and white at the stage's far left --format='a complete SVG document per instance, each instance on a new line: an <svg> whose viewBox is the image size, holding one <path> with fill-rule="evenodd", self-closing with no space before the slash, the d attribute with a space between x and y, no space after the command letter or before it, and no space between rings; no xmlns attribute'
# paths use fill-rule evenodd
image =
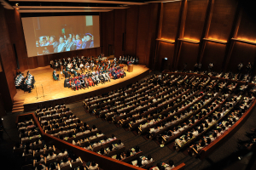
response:
<svg viewBox="0 0 256 170"><path fill-rule="evenodd" d="M17 72L15 77L15 87L31 93L31 89L34 88L35 79L29 71L26 72L26 77L23 73Z"/></svg>

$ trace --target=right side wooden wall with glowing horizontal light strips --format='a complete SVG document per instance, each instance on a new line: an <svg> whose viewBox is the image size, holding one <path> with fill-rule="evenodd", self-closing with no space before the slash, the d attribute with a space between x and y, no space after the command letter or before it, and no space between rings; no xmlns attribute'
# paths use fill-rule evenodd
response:
<svg viewBox="0 0 256 170"><path fill-rule="evenodd" d="M255 63L253 3L183 0L159 5L154 69L160 70L164 56L168 58L170 71L183 70L184 63L187 70L193 70L195 63L201 62L202 70L207 70L212 62L214 71L236 71L240 62L244 67L249 61Z"/></svg>

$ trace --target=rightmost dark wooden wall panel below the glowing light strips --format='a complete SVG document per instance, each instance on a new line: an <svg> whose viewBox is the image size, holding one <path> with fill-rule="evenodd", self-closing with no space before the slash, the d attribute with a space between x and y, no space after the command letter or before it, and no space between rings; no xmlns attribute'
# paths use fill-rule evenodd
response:
<svg viewBox="0 0 256 170"><path fill-rule="evenodd" d="M256 59L256 46L241 42L235 42L231 54L228 71L237 72L237 65L242 62L242 71L245 72L245 67L248 62L255 63Z"/></svg>

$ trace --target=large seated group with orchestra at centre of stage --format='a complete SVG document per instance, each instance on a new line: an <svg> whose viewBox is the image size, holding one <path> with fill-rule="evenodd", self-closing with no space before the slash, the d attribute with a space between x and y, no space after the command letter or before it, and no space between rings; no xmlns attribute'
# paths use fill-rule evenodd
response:
<svg viewBox="0 0 256 170"><path fill-rule="evenodd" d="M129 57L128 62L132 62L131 59L135 58ZM104 58L104 54L100 54L97 59L94 59L93 56L88 56L87 58L84 56L81 58L73 56L73 59L67 58L67 60L65 58L55 59L55 61L50 61L50 66L54 68L53 78L55 80L60 80L56 70L61 71L61 74L66 78L64 87L78 90L79 88L89 88L89 86L98 85L101 82L110 82L111 78L125 77L125 70L119 63L119 60L116 58L111 62L109 59ZM71 75L73 76L72 78Z"/></svg>

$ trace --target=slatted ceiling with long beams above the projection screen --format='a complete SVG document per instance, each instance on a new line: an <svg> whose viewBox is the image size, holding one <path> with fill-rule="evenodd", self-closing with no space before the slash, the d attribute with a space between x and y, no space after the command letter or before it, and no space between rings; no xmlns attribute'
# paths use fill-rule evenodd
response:
<svg viewBox="0 0 256 170"><path fill-rule="evenodd" d="M166 0L167 1L167 0ZM171 0L175 1L175 0ZM0 0L4 8L15 8L22 14L99 13L131 5L160 3L153 0Z"/></svg>

